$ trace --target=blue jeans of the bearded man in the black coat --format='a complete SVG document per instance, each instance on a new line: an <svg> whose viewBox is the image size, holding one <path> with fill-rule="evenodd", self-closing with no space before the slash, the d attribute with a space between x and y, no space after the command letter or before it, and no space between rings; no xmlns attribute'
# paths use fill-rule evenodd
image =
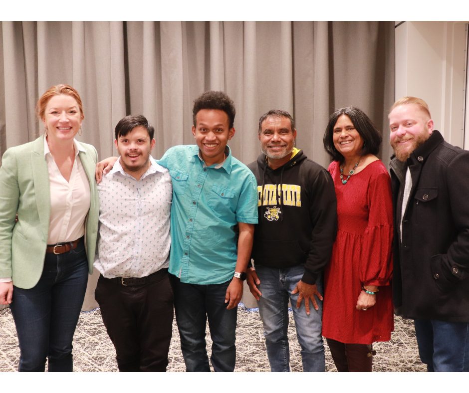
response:
<svg viewBox="0 0 469 393"><path fill-rule="evenodd" d="M427 370L469 371L469 323L415 320L419 355Z"/></svg>

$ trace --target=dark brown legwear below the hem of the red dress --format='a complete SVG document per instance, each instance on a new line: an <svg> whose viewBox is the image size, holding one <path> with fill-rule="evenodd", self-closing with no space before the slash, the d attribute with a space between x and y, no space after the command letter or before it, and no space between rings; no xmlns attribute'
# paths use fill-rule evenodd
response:
<svg viewBox="0 0 469 393"><path fill-rule="evenodd" d="M337 371L340 372L371 372L373 363L373 346L367 344L344 344L328 339Z"/></svg>

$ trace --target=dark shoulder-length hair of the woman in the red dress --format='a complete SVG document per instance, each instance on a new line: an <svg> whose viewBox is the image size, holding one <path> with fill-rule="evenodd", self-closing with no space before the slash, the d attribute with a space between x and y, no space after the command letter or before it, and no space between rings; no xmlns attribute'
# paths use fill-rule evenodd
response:
<svg viewBox="0 0 469 393"><path fill-rule="evenodd" d="M365 112L353 106L348 106L347 108L338 109L331 115L326 131L324 132L324 149L332 156L332 159L340 163L344 161L344 156L337 151L332 141L335 123L337 123L338 118L342 115L346 115L350 118L353 126L363 139L364 144L361 154L378 154L383 139L380 132L376 129Z"/></svg>

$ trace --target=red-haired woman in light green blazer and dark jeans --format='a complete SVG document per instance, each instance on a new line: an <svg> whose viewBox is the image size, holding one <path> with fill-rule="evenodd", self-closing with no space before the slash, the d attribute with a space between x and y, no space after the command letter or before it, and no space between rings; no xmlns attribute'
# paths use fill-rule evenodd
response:
<svg viewBox="0 0 469 393"><path fill-rule="evenodd" d="M45 133L0 167L0 304L18 333L19 371L72 371L72 339L92 272L99 202L96 149L77 142L83 108L71 86L39 99ZM15 215L18 220L15 222Z"/></svg>

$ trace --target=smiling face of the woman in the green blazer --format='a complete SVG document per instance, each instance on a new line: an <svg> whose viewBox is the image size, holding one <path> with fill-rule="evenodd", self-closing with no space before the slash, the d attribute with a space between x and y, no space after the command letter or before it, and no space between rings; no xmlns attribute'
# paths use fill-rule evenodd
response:
<svg viewBox="0 0 469 393"><path fill-rule="evenodd" d="M44 111L44 128L47 140L53 143L72 140L81 127L82 115L76 100L59 94L50 98Z"/></svg>

